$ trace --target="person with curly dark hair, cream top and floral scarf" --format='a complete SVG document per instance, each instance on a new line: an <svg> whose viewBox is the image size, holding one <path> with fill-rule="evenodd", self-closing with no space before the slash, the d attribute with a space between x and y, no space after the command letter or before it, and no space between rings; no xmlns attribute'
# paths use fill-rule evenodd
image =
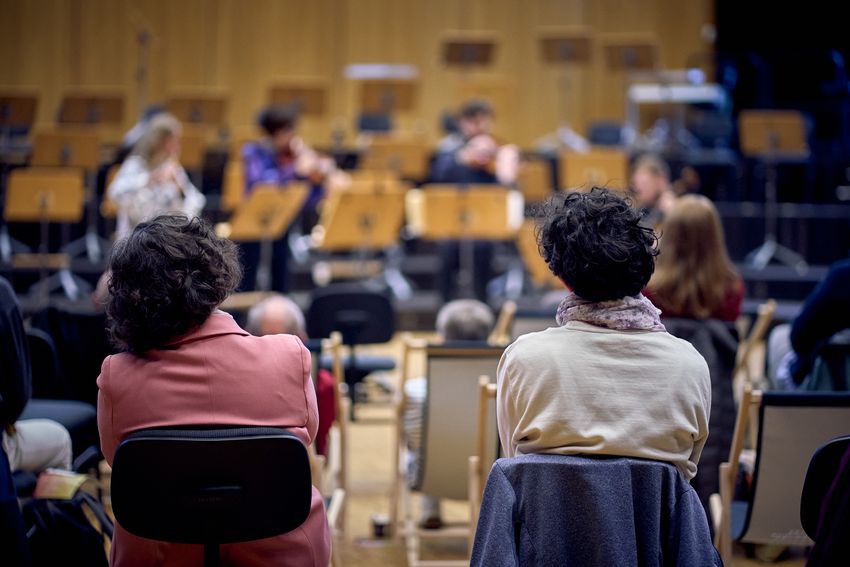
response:
<svg viewBox="0 0 850 567"><path fill-rule="evenodd" d="M655 234L640 221L606 189L547 203L540 252L570 293L558 306L559 326L519 337L499 364L507 456L618 455L696 474L708 436L708 367L640 293L656 255Z"/></svg>

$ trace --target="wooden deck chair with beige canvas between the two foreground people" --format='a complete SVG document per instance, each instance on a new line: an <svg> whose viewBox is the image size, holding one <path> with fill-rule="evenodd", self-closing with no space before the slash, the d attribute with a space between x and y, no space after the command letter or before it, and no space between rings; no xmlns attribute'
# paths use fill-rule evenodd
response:
<svg viewBox="0 0 850 567"><path fill-rule="evenodd" d="M467 538L470 525L448 526L438 530L420 529L412 517L411 492L413 490L437 498L465 500L469 497L469 457L478 451L480 442L478 420L470 408L480 398L478 379L482 375L495 376L503 347L484 342L463 341L445 344L428 344L425 341L405 341L402 355L403 381L397 406L396 446L394 463L396 476L390 495L390 522L396 534L405 538L407 560L410 567L423 565L468 565L465 560L422 561L420 544L424 538ZM418 478L415 488L409 488L407 479L408 448L403 427L407 394L405 385L410 376L407 370L411 354L424 353L426 360L427 397L422 421ZM481 462L495 460L498 434L496 433L495 407L493 419L487 422L485 441L491 439L489 450L482 451ZM403 527L400 528L399 508L402 508ZM400 529L399 529L400 528Z"/></svg>

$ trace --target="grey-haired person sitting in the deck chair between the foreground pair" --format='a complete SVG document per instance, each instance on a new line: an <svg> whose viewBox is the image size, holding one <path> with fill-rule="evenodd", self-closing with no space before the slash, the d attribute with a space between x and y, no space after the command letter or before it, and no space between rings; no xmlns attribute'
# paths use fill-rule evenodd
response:
<svg viewBox="0 0 850 567"><path fill-rule="evenodd" d="M446 303L437 313L437 334L444 341L485 341L493 330L495 319L490 308L474 299L457 299ZM422 449L422 420L425 414L428 382L425 377L412 378L404 384L407 403L404 407L404 434L409 449L408 470L413 482L419 468L419 453ZM427 529L442 526L440 500L422 495L422 519L420 524Z"/></svg>

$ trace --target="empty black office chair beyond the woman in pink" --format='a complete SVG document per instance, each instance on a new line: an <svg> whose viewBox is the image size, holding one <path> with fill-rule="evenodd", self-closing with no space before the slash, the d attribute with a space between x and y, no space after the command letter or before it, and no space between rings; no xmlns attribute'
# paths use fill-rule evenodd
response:
<svg viewBox="0 0 850 567"><path fill-rule="evenodd" d="M395 309L387 290L347 282L331 284L313 292L307 310L307 335L314 339L326 338L333 331L342 334L342 342L351 352L343 365L351 398L351 418L354 419L354 385L372 372L395 368L393 358L357 356L355 353L357 345L392 340Z"/></svg>

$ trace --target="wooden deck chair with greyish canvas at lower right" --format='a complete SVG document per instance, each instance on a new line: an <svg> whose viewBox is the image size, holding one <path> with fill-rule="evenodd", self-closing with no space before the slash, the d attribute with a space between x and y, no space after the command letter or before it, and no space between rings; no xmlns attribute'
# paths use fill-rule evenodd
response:
<svg viewBox="0 0 850 567"><path fill-rule="evenodd" d="M758 419L751 419L753 410ZM734 499L747 429L757 430L755 469L747 500ZM715 545L723 564L732 543L808 546L800 523L800 494L815 450L850 431L850 394L753 391L739 404L728 462L720 465L720 493L711 497Z"/></svg>

